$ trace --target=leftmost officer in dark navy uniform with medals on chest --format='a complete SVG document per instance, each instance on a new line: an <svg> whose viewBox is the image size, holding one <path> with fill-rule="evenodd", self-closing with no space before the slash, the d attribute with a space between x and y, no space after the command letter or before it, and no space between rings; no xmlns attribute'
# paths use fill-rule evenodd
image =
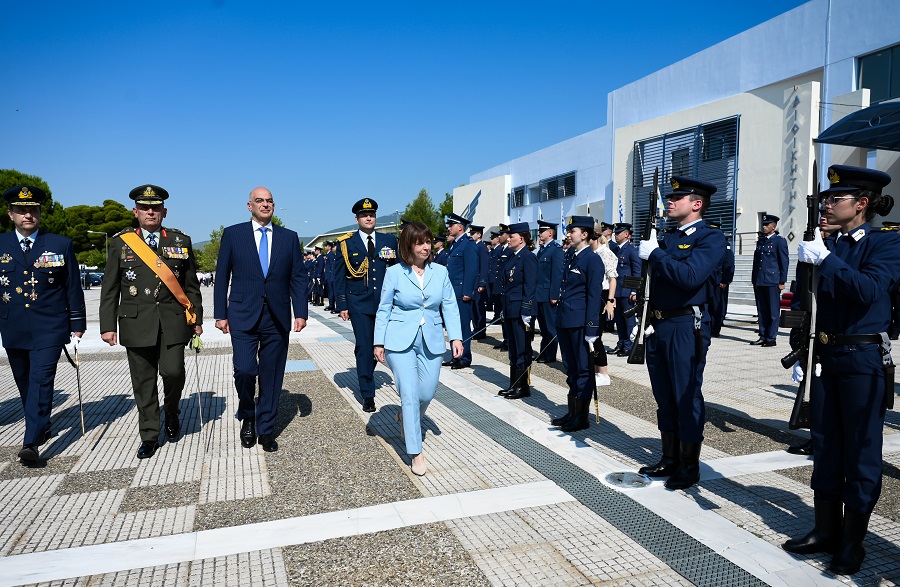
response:
<svg viewBox="0 0 900 587"><path fill-rule="evenodd" d="M6 190L15 230L0 234L0 336L25 411L23 465L40 460L52 435L53 380L63 345L87 328L72 240L40 229L40 188Z"/></svg>

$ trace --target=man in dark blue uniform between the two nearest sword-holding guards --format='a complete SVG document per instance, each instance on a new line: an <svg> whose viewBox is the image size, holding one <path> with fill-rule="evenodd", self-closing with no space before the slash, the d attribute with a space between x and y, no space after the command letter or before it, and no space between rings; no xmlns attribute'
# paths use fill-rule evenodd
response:
<svg viewBox="0 0 900 587"><path fill-rule="evenodd" d="M537 302L537 323L541 328L541 350L538 363L556 362L556 349L559 341L556 336L556 307L559 304L559 292L562 288L565 255L562 246L556 240L558 224L538 220L538 281L535 293Z"/></svg>

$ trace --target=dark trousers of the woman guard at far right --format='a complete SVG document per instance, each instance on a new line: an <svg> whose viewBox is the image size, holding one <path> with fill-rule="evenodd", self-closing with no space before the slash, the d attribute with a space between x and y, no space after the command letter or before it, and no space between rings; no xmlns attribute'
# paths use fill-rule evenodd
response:
<svg viewBox="0 0 900 587"><path fill-rule="evenodd" d="M822 352L810 387L810 432L817 499L870 513L881 495L884 372L879 345Z"/></svg>

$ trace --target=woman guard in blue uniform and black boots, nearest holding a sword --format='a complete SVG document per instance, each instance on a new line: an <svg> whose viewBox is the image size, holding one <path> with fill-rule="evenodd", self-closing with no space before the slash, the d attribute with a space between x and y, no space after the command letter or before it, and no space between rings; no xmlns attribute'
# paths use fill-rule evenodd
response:
<svg viewBox="0 0 900 587"><path fill-rule="evenodd" d="M588 246L594 232L593 218L573 216L566 232L571 246L566 250L556 332L566 367L569 410L550 423L559 426L563 432L575 432L590 426L588 414L594 393L594 371L589 353L599 336L605 269L600 256Z"/></svg>

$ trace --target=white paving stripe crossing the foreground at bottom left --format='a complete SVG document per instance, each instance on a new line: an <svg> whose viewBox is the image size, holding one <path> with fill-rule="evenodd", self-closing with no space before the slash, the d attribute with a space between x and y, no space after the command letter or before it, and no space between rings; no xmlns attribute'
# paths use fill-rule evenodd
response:
<svg viewBox="0 0 900 587"><path fill-rule="evenodd" d="M574 498L552 481L411 499L216 530L0 558L0 586L172 565L419 524L548 506Z"/></svg>

